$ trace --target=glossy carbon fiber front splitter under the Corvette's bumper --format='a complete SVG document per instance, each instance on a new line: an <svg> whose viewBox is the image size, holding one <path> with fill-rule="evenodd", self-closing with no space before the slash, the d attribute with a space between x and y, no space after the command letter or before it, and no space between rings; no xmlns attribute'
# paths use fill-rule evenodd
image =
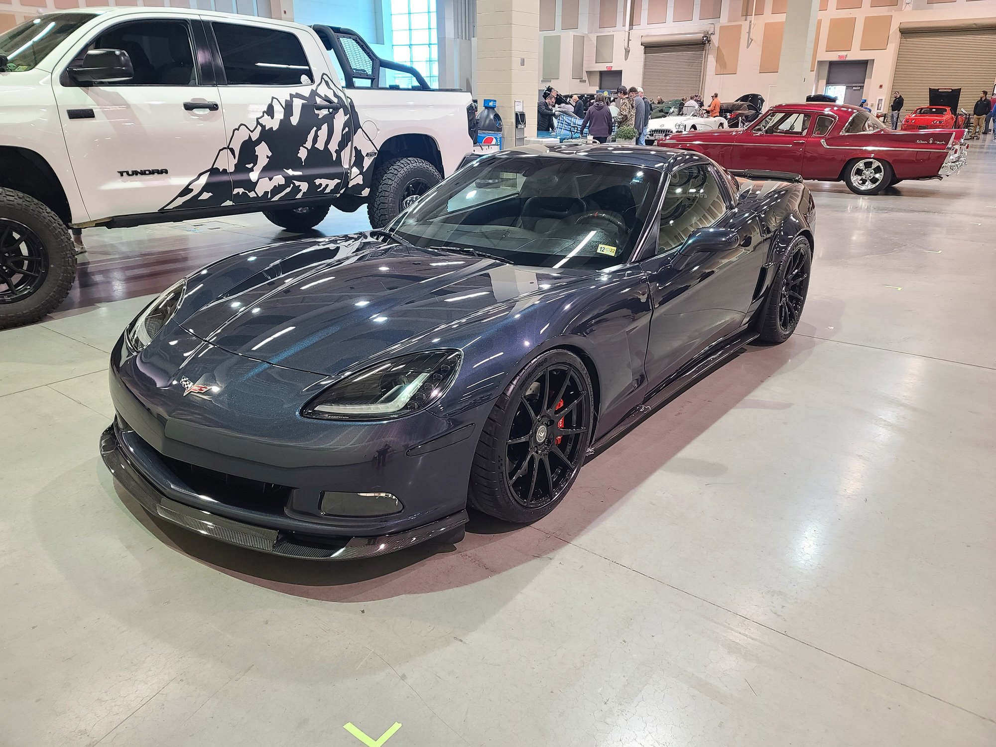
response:
<svg viewBox="0 0 996 747"><path fill-rule="evenodd" d="M439 538L467 522L467 512L458 511L431 524L396 534L343 538L341 545L311 543L293 533L235 521L167 498L128 461L113 425L101 435L101 456L115 479L148 513L231 545L290 558L329 561L373 558Z"/></svg>

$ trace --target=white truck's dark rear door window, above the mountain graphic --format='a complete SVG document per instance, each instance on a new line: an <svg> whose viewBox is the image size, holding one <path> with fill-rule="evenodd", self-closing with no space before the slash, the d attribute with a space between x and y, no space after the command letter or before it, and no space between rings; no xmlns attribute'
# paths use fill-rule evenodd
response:
<svg viewBox="0 0 996 747"><path fill-rule="evenodd" d="M212 23L229 86L301 86L315 82L298 38L286 31Z"/></svg>

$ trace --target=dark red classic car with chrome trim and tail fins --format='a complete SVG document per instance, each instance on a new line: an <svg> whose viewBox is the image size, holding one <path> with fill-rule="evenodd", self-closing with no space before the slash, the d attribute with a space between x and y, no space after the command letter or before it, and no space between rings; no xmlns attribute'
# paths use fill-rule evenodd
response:
<svg viewBox="0 0 996 747"><path fill-rule="evenodd" d="M726 168L791 171L877 194L903 179L955 173L967 158L964 138L964 129L889 129L858 107L782 104L745 129L676 133L656 144L697 150Z"/></svg>

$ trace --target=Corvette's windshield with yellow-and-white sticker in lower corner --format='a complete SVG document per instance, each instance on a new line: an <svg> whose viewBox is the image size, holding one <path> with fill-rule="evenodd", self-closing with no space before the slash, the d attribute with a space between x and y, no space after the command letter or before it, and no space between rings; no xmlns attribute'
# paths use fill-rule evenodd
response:
<svg viewBox="0 0 996 747"><path fill-rule="evenodd" d="M517 265L603 269L628 260L659 181L637 165L497 155L446 179L390 230Z"/></svg>

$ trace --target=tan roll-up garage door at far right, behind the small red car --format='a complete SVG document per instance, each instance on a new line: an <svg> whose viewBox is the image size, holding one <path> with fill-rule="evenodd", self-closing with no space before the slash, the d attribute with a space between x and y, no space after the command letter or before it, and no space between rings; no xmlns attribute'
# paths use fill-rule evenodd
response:
<svg viewBox="0 0 996 747"><path fill-rule="evenodd" d="M996 21L899 25L892 91L902 94L904 112L925 107L928 89L949 88L961 89L959 107L971 114L982 92L992 92L994 81Z"/></svg>

